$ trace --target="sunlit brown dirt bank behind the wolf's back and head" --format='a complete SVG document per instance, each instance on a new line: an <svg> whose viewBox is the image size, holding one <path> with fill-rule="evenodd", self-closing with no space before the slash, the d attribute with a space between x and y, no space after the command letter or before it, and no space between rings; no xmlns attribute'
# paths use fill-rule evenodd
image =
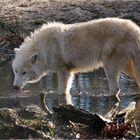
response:
<svg viewBox="0 0 140 140"><path fill-rule="evenodd" d="M11 60L13 49L44 23L120 17L140 25L139 12L139 0L0 0L0 66Z"/></svg>

